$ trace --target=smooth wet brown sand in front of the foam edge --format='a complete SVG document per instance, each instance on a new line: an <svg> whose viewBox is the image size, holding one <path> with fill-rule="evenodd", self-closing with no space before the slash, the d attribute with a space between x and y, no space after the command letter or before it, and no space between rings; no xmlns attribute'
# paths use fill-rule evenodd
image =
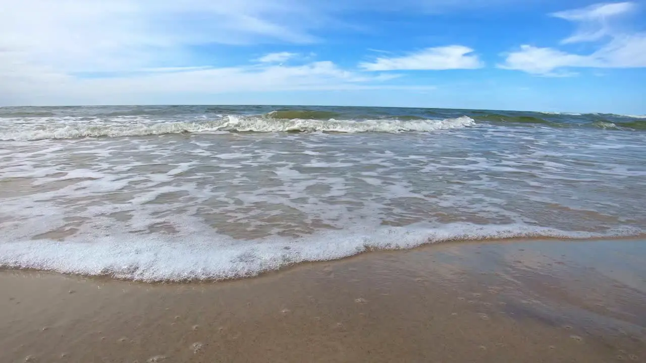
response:
<svg viewBox="0 0 646 363"><path fill-rule="evenodd" d="M0 271L0 362L646 362L645 260L523 240L227 282Z"/></svg>

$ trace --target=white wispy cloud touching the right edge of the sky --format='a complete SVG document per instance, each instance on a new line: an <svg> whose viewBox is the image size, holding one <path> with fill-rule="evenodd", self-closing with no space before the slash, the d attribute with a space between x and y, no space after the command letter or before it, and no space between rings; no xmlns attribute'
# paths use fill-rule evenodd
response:
<svg viewBox="0 0 646 363"><path fill-rule="evenodd" d="M590 54L572 54L556 48L521 45L508 52L499 68L521 70L539 76L571 76L568 68L646 67L646 33L623 32L612 21L636 9L633 3L598 4L587 8L557 12L552 16L578 23L578 31L561 43L600 41Z"/></svg>

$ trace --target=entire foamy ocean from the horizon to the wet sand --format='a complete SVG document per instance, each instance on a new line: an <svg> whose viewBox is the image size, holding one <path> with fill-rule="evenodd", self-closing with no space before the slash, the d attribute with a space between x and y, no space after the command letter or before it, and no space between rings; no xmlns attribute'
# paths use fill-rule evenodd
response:
<svg viewBox="0 0 646 363"><path fill-rule="evenodd" d="M0 108L0 267L156 281L378 249L646 235L646 116Z"/></svg>

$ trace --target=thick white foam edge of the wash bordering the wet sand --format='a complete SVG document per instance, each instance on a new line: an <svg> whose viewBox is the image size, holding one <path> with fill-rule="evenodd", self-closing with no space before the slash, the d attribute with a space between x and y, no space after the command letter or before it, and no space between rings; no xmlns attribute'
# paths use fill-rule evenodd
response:
<svg viewBox="0 0 646 363"><path fill-rule="evenodd" d="M433 228L427 223L417 223L407 227L329 231L302 240L276 237L243 242L200 232L204 231L198 229L183 238L140 234L106 237L96 233L65 243L48 240L5 242L0 244L0 266L147 282L219 280L255 276L298 262L335 260L372 249L410 249L450 240L594 238L643 233L618 229L596 234L525 225L470 223Z"/></svg>

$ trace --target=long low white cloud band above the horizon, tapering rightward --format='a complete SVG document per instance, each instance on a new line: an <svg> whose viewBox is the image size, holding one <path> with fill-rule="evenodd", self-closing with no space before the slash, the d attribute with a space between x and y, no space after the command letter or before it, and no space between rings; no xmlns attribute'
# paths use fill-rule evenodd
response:
<svg viewBox="0 0 646 363"><path fill-rule="evenodd" d="M32 70L33 71L33 70ZM365 74L344 70L331 61L302 65L261 64L240 67L186 67L143 69L141 72L104 78L77 78L65 74L22 72L10 75L12 81L0 84L0 102L30 104L132 104L149 103L186 95L231 94L232 92L278 92L292 90L431 90L432 86L393 85L386 83L396 74ZM2 78L0 74L0 78ZM56 87L43 87L56 84ZM11 88L11 98L3 91ZM9 93L6 93L9 94ZM63 97L63 98L61 98ZM184 98L185 99L185 98ZM65 101L63 101L65 100Z"/></svg>

